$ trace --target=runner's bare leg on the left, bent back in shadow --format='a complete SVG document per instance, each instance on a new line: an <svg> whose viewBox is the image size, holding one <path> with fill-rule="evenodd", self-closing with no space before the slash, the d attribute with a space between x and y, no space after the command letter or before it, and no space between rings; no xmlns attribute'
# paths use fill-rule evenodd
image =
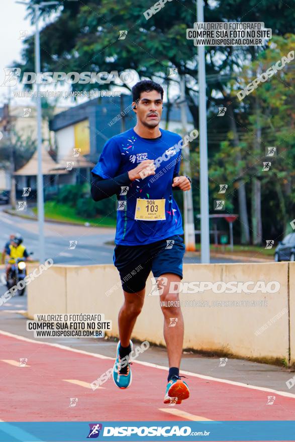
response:
<svg viewBox="0 0 295 442"><path fill-rule="evenodd" d="M129 346L133 327L144 303L144 295L145 288L137 293L124 291L125 299L118 317L119 336L122 347Z"/></svg>

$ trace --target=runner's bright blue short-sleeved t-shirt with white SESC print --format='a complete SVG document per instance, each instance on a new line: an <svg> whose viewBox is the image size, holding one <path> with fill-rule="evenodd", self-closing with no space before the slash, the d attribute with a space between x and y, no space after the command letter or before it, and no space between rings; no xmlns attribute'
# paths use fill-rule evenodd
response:
<svg viewBox="0 0 295 442"><path fill-rule="evenodd" d="M146 140L133 129L112 137L92 169L94 174L104 179L114 178L134 169L144 160L156 160L163 155L162 161L156 162L159 165L155 175L132 181L127 194L119 196L119 200L126 200L127 203L125 210L117 211L117 245L138 246L183 234L180 211L172 195L173 177L178 175L180 167L181 137L162 129L160 132L162 136L155 140ZM175 147L177 144L178 148ZM166 219L135 219L137 198L164 198Z"/></svg>

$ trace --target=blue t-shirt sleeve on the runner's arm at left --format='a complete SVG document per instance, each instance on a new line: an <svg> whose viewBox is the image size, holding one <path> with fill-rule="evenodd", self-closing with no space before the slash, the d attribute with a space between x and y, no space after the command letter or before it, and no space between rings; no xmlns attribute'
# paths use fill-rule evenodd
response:
<svg viewBox="0 0 295 442"><path fill-rule="evenodd" d="M114 138L107 141L98 163L91 170L95 175L104 179L114 178L118 175L121 163L121 152Z"/></svg>

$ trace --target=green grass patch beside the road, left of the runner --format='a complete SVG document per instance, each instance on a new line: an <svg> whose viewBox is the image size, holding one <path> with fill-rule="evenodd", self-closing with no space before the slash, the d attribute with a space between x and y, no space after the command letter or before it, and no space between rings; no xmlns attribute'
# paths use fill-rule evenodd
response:
<svg viewBox="0 0 295 442"><path fill-rule="evenodd" d="M32 209L37 214L37 207ZM64 223L74 223L84 225L89 223L90 226L95 227L116 227L116 220L104 216L97 216L96 218L84 218L78 216L74 207L67 204L60 204L55 201L46 201L44 204L45 218L54 219Z"/></svg>

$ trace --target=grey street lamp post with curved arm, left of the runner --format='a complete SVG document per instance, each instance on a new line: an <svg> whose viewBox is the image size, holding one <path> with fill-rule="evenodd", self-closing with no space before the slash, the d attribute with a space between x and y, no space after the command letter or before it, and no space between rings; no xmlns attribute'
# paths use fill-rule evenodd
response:
<svg viewBox="0 0 295 442"><path fill-rule="evenodd" d="M29 6L26 2L16 2L21 5ZM44 6L58 5L58 2L41 2L33 5L35 10L35 71L41 72L40 66L40 34L39 34L39 10ZM38 153L38 174L37 174L37 208L39 225L39 261L45 261L45 239L44 239L44 197L43 197L43 173L42 173L42 108L40 97L40 84L36 81L37 92L37 153Z"/></svg>

